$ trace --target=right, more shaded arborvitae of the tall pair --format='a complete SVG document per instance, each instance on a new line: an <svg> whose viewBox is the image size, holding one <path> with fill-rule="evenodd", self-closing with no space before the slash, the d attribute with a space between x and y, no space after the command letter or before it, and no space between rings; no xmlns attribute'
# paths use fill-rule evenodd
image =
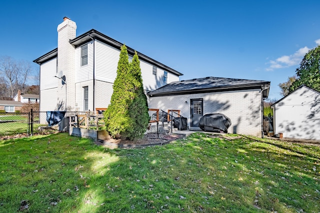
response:
<svg viewBox="0 0 320 213"><path fill-rule="evenodd" d="M129 67L132 76L131 82L134 87L134 98L129 106L129 115L133 125L132 128L129 129L129 132L127 132L127 136L130 140L134 140L143 137L150 117L148 114L147 99L143 92L140 61L136 52L133 55Z"/></svg>

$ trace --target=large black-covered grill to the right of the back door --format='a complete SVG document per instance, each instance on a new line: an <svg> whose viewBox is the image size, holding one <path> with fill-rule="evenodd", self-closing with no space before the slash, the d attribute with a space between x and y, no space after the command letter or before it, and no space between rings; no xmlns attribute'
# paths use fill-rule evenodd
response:
<svg viewBox="0 0 320 213"><path fill-rule="evenodd" d="M199 127L203 131L221 130L227 133L231 126L231 120L223 114L213 113L205 114L200 118Z"/></svg>

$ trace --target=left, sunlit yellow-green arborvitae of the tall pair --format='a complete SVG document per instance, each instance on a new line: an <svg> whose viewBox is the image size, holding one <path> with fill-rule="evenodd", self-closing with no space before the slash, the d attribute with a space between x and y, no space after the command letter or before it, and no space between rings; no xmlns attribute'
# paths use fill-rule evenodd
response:
<svg viewBox="0 0 320 213"><path fill-rule="evenodd" d="M131 132L132 119L129 115L129 106L134 98L133 86L130 83L129 62L126 46L120 51L120 58L113 83L113 93L110 104L104 112L106 131L113 138L125 137L126 132Z"/></svg>

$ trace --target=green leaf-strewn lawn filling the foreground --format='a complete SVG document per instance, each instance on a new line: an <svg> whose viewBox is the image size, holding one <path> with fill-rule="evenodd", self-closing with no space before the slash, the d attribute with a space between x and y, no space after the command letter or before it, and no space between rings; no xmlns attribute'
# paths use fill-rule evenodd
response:
<svg viewBox="0 0 320 213"><path fill-rule="evenodd" d="M320 147L227 137L113 150L66 133L0 141L0 212L320 212Z"/></svg>

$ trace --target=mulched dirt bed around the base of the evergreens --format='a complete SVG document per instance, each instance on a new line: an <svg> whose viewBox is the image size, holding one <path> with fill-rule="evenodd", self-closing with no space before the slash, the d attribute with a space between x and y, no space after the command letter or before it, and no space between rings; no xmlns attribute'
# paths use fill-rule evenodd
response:
<svg viewBox="0 0 320 213"><path fill-rule="evenodd" d="M115 146L115 147L143 147L143 146L154 146L154 145L163 145L167 144L170 141L183 138L183 135L179 134L159 134L159 137L156 133L147 133L142 139L130 141L123 139L107 139L104 141L98 140L96 144L102 146Z"/></svg>

